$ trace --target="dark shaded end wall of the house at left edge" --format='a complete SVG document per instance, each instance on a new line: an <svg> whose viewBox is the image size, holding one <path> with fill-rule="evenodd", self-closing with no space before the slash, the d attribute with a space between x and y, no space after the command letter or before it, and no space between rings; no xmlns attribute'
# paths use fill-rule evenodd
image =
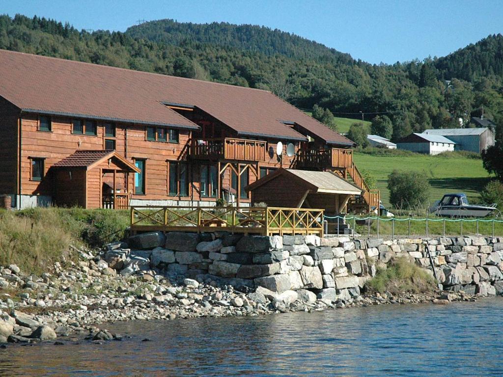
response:
<svg viewBox="0 0 503 377"><path fill-rule="evenodd" d="M0 194L18 193L20 110L0 97Z"/></svg>

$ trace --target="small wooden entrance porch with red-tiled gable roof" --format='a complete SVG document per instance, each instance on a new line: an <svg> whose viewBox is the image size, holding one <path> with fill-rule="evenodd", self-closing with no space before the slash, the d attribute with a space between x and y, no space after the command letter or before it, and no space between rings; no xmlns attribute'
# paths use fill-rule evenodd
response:
<svg viewBox="0 0 503 377"><path fill-rule="evenodd" d="M128 208L130 173L140 172L134 164L110 150L77 150L51 169L56 176L57 204L84 208Z"/></svg>

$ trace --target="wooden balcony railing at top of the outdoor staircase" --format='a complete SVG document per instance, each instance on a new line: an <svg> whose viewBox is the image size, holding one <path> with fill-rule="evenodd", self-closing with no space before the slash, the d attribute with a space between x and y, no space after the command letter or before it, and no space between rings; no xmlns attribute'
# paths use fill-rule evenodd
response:
<svg viewBox="0 0 503 377"><path fill-rule="evenodd" d="M310 149L299 150L297 168L349 168L353 163L351 149Z"/></svg>

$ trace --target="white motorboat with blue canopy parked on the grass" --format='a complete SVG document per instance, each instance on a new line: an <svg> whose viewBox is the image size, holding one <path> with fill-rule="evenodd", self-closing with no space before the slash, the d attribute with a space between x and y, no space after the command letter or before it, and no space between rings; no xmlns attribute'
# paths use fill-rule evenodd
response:
<svg viewBox="0 0 503 377"><path fill-rule="evenodd" d="M446 194L436 201L430 213L447 217L485 217L496 210L496 205L471 205L466 194Z"/></svg>

